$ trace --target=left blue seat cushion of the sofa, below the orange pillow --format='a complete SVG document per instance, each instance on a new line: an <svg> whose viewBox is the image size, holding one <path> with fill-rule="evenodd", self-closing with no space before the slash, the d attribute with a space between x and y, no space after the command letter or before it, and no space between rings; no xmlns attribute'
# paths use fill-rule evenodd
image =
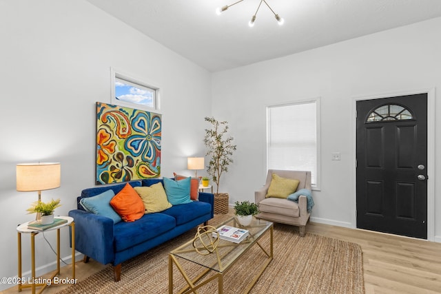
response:
<svg viewBox="0 0 441 294"><path fill-rule="evenodd" d="M115 251L123 251L173 229L174 218L163 213L143 214L136 222L119 222L114 226Z"/></svg>

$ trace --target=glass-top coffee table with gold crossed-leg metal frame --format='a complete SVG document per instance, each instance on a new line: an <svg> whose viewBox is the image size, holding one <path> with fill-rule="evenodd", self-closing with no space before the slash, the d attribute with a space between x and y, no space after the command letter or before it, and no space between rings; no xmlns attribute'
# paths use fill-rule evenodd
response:
<svg viewBox="0 0 441 294"><path fill-rule="evenodd" d="M198 288L216 279L218 280L218 293L223 293L223 280L225 273L234 267L234 264L240 258L240 256L244 255L249 249L257 244L265 255L267 255L267 258L262 264L260 264L260 269L256 272L251 282L249 282L245 293L248 293L251 290L260 275L262 275L263 271L265 271L267 268L268 264L271 262L271 260L273 260L273 223L266 220L253 219L252 224L243 227L239 224L236 217L234 217L221 224L218 224L218 227L221 227L224 224L246 229L249 231L249 235L240 243L219 239L216 249L212 253L209 253L209 251L205 249L201 249L201 246L198 246L197 244L195 248L194 240L189 240L185 244L171 251L168 254L168 280L170 294L173 293L173 264L176 266L181 275L183 275L188 284L188 286L181 289L181 291L178 293L197 293ZM265 248L263 244L259 243L260 239L263 237L263 235L266 235L265 233L267 232L269 232L269 246L267 246L269 248ZM211 236L211 233L209 233L209 236ZM205 236L205 238L208 238L208 236ZM190 278L188 273L183 268L181 259L201 266L201 273L194 278ZM254 267L256 264L250 264L250 266ZM203 282L196 284L209 271L213 271L214 275L208 277Z"/></svg>

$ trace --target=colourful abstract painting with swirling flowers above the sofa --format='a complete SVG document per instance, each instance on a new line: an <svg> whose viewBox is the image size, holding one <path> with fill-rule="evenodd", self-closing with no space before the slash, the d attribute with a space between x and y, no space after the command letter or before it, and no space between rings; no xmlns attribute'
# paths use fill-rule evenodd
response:
<svg viewBox="0 0 441 294"><path fill-rule="evenodd" d="M161 175L161 115L96 103L96 184Z"/></svg>

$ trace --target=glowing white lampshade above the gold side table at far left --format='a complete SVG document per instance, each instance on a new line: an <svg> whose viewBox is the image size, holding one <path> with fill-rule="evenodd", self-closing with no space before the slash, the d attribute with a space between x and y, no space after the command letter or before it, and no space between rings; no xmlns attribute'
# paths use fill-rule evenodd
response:
<svg viewBox="0 0 441 294"><path fill-rule="evenodd" d="M38 162L17 164L17 191L43 191L60 187L61 164Z"/></svg>

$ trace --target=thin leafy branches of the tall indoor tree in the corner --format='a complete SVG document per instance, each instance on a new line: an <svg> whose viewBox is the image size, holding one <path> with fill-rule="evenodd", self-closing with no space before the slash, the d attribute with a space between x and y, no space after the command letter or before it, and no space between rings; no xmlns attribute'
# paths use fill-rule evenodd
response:
<svg viewBox="0 0 441 294"><path fill-rule="evenodd" d="M205 117L205 121L211 123L211 129L205 129L204 144L208 148L207 156L210 156L207 173L216 183L216 194L219 194L220 176L228 171L228 165L233 162L233 137L227 136L227 121L219 122L215 118Z"/></svg>

